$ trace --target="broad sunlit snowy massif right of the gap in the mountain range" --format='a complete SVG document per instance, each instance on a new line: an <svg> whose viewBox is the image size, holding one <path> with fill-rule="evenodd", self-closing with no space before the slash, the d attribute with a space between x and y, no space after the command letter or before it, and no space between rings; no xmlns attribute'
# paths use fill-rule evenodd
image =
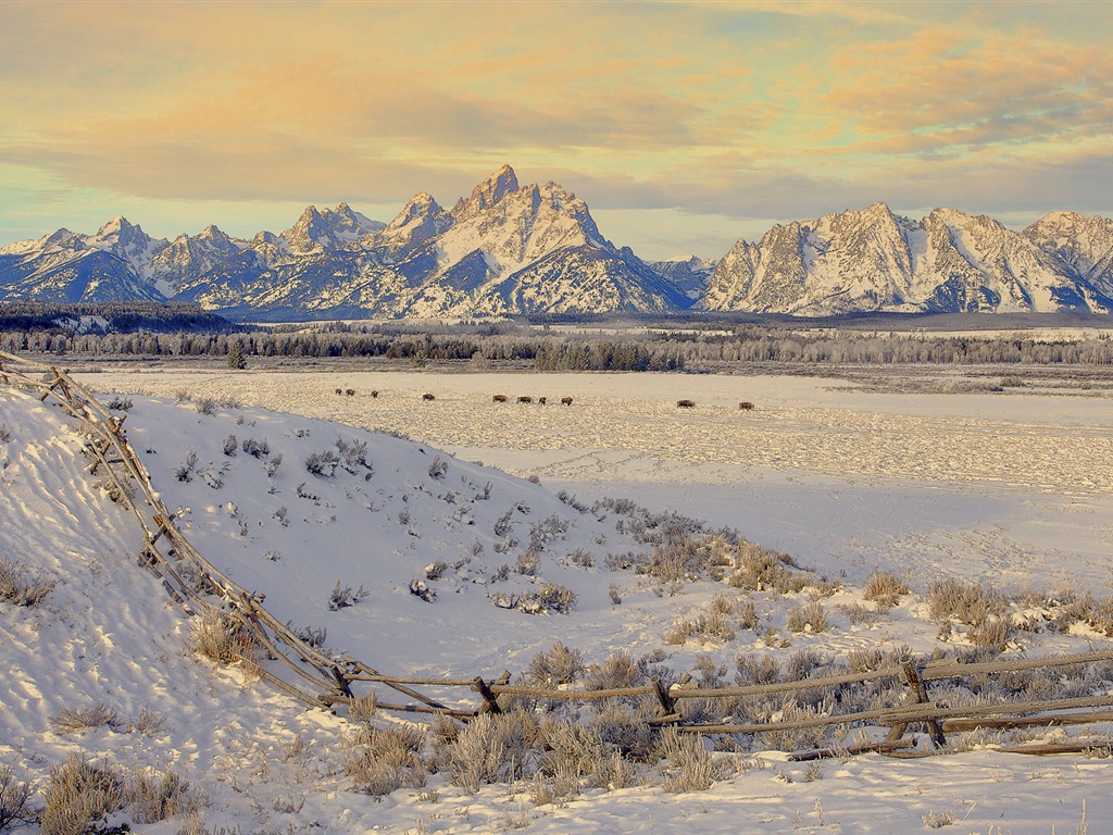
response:
<svg viewBox="0 0 1113 835"><path fill-rule="evenodd" d="M1056 237L1063 246L1066 238ZM1048 240L955 209L915 223L876 203L737 242L700 306L797 315L1107 311L1103 279L1086 279L1077 257L1056 258Z"/></svg>

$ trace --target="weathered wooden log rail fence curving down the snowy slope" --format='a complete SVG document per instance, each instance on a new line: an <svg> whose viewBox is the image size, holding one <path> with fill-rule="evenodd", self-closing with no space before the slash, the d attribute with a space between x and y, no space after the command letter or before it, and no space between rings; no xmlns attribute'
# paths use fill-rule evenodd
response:
<svg viewBox="0 0 1113 835"><path fill-rule="evenodd" d="M33 374L38 374L38 377L32 376ZM378 709L440 714L463 720L484 713L500 714L505 699L511 697L579 703L642 698L657 701L657 715L646 719L649 726L671 726L686 734L768 734L853 724L871 724L890 728L883 741L843 748L838 752L820 749L794 755L800 759L867 750L900 756L898 749L914 746L914 740L905 737L908 726L914 724L923 725L933 743L943 746L946 744L944 734L948 731L1113 721L1113 710L1093 709L1113 707L1113 691L1075 698L1005 700L999 704L962 707L935 704L929 699L927 691L929 681L943 679L1113 661L1113 650L977 664L942 659L920 667L910 660L904 660L866 672L719 688L700 688L687 676L669 687L666 687L660 679L653 678L648 685L637 687L577 690L511 685L509 672L503 672L493 679L418 678L382 674L355 658L346 655L329 656L309 646L267 611L263 606L262 595L248 592L238 586L189 543L175 525L174 514L162 503L151 485L150 474L127 441L124 431L126 415L119 418L114 415L65 371L4 352L0 352L0 383L37 392L41 401L52 397L66 412L80 421L81 432L87 438L86 451L93 459L89 466L90 472L101 474L110 497L129 509L142 528L145 544L138 563L161 579L167 592L189 616L214 612L232 618L237 628L245 630L252 639L265 648L269 661L276 664L266 669L262 662L245 662L252 665L263 679L276 688L313 706L333 707L351 704L357 695L353 690L353 685L367 682L385 685L417 703L390 704L376 700ZM139 498L136 495L137 491ZM285 677L279 675L283 669L286 670ZM815 688L840 688L886 679L898 679L904 682L905 704L856 713L736 724L691 721L686 717L683 709L684 703L691 699L740 699L792 694ZM460 699L450 706L413 689L411 685L436 688L466 687L471 692L479 695L480 704L471 707L465 704L466 699ZM504 697L503 704L500 704L500 697ZM1104 744L1105 747L1107 745ZM1046 754L1080 752L1095 747L1102 745L1058 744L1011 750Z"/></svg>

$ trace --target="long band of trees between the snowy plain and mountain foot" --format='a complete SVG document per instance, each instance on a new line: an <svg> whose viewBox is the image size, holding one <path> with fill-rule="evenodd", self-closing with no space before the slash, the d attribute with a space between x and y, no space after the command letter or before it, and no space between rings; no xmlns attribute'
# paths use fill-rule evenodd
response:
<svg viewBox="0 0 1113 835"><path fill-rule="evenodd" d="M119 308L114 308L118 304ZM1054 340L1038 332L933 336L802 330L782 323L558 332L523 323L412 322L234 325L191 305L0 304L0 347L87 356L352 357L415 365L532 364L538 371L699 371L730 364L1113 364L1110 332ZM86 310L88 308L88 310ZM60 312L59 312L60 311ZM110 315L109 315L110 314ZM78 323L81 326L78 327ZM686 323L691 325L691 322Z"/></svg>

